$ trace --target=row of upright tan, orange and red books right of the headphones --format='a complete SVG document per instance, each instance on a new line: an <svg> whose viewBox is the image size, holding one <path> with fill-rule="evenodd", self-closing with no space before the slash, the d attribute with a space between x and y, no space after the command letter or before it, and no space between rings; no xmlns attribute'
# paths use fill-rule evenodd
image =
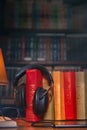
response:
<svg viewBox="0 0 87 130"><path fill-rule="evenodd" d="M54 95L44 119L87 119L87 70L53 70L52 76Z"/></svg>

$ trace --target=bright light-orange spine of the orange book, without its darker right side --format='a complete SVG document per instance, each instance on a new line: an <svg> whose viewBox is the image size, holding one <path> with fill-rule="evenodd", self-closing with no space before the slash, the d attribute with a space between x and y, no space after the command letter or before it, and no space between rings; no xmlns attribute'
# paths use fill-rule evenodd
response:
<svg viewBox="0 0 87 130"><path fill-rule="evenodd" d="M55 120L61 120L61 77L60 71L53 71L54 80L54 118Z"/></svg>

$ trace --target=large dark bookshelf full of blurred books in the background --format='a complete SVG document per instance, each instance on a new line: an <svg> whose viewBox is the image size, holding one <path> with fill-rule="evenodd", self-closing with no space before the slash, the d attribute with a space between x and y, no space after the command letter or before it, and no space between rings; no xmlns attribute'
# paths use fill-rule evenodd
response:
<svg viewBox="0 0 87 130"><path fill-rule="evenodd" d="M0 88L6 93L0 98L8 99L14 75L24 65L87 67L87 5L76 5L66 0L0 2L0 47L10 81L8 90Z"/></svg>

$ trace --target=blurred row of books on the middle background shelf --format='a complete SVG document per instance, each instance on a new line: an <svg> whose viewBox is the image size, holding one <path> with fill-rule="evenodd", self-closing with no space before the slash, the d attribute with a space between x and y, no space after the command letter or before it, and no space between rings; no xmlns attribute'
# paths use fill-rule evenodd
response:
<svg viewBox="0 0 87 130"><path fill-rule="evenodd" d="M4 59L10 61L87 61L87 37L12 36L1 37Z"/></svg>

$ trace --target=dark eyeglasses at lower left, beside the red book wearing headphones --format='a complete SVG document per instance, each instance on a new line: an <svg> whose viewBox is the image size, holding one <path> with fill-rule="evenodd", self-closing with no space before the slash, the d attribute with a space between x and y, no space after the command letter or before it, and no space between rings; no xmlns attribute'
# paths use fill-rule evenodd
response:
<svg viewBox="0 0 87 130"><path fill-rule="evenodd" d="M0 108L0 115L10 118L21 117L20 109L16 107L2 107Z"/></svg>

